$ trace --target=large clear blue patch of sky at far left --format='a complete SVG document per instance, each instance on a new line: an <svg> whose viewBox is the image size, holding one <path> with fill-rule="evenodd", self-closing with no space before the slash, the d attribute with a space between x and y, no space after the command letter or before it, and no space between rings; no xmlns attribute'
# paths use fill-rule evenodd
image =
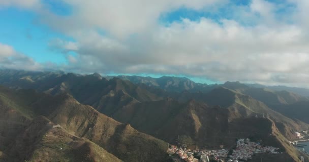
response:
<svg viewBox="0 0 309 162"><path fill-rule="evenodd" d="M52 52L48 47L51 39L66 36L36 22L35 13L16 8L1 9L0 20L0 42L13 46L16 51L40 63L66 62L64 55Z"/></svg>

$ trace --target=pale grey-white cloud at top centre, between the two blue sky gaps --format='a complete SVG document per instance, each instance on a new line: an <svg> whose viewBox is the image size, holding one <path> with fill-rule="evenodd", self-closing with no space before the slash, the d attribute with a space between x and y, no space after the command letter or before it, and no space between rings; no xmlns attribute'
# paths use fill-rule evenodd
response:
<svg viewBox="0 0 309 162"><path fill-rule="evenodd" d="M46 11L42 19L54 29L67 33L89 28L101 28L115 36L123 37L132 33L148 31L158 26L158 18L166 12L187 7L202 10L206 6L225 2L226 0L64 0L74 9L71 17L56 16Z"/></svg>

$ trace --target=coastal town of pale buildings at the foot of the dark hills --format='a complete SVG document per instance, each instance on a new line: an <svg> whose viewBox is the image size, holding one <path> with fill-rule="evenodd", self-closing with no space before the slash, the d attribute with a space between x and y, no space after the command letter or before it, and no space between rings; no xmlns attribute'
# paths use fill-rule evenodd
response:
<svg viewBox="0 0 309 162"><path fill-rule="evenodd" d="M279 154L279 148L262 146L260 143L251 142L250 139L238 139L236 148L219 150L190 150L183 147L170 145L167 153L173 161L209 162L209 161L247 161L257 153Z"/></svg>

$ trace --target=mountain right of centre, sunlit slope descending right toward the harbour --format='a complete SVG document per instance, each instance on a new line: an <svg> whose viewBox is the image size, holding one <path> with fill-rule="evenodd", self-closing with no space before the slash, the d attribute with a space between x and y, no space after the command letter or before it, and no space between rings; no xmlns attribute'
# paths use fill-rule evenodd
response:
<svg viewBox="0 0 309 162"><path fill-rule="evenodd" d="M308 129L307 124L299 120L292 120L248 95L224 87L214 89L207 95L199 96L198 100L210 105L220 105L227 108L229 110L229 120L251 116L262 117L263 114L266 117L268 114L288 139L296 138L295 131Z"/></svg>

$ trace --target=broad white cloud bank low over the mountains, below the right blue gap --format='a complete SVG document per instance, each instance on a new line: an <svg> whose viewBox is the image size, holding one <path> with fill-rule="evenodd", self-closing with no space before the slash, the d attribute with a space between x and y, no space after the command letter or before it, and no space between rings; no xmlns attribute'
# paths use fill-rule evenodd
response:
<svg viewBox="0 0 309 162"><path fill-rule="evenodd" d="M308 71L309 48L301 28L244 27L232 20L221 23L183 19L129 42L98 33L81 36L77 39L80 61L71 64L71 69L187 74L259 83L279 82L278 75ZM305 80L299 78L300 82Z"/></svg>

